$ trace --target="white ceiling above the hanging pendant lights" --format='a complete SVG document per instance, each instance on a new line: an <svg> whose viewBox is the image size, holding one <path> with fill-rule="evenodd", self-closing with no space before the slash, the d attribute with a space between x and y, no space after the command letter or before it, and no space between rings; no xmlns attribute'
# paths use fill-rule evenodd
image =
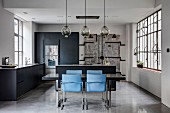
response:
<svg viewBox="0 0 170 113"><path fill-rule="evenodd" d="M141 20L154 10L155 0L106 0L106 23L126 24ZM42 24L65 23L65 0L4 0L4 8L23 18ZM28 14L24 14L27 12ZM68 0L68 23L84 23L84 0ZM87 16L100 16L87 23L103 23L103 0L87 0Z"/></svg>

